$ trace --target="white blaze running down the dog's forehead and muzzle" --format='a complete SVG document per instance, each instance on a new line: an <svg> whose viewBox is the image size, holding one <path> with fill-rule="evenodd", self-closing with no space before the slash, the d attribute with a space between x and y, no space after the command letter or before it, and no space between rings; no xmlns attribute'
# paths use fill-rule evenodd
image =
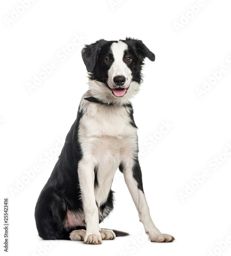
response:
<svg viewBox="0 0 231 256"><path fill-rule="evenodd" d="M114 61L112 63L111 68L108 72L108 84L109 86L113 86L113 78L115 76L123 75L126 78L126 82L124 87L129 87L131 79L132 79L132 72L127 67L127 65L123 62L124 51L127 50L127 44L122 41L113 42L111 45L111 50L113 54Z"/></svg>

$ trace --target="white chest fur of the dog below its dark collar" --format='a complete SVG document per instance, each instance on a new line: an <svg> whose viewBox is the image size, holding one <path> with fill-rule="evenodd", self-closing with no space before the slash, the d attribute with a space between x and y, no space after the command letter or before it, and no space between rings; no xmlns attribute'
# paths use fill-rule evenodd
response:
<svg viewBox="0 0 231 256"><path fill-rule="evenodd" d="M132 158L137 150L137 132L124 106L84 103L79 139L83 158L92 161L97 169L94 193L100 206L108 198L119 164Z"/></svg>

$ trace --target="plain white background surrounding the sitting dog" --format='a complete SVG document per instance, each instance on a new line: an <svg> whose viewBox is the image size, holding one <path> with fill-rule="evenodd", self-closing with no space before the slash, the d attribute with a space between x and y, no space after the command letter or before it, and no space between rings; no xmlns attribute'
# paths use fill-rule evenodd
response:
<svg viewBox="0 0 231 256"><path fill-rule="evenodd" d="M19 8L23 13L17 18L14 14L10 23L22 4L1 2L1 241L3 201L8 197L9 255L206 256L210 250L230 255L231 244L222 243L223 249L217 244L231 236L231 157L225 155L231 151L226 150L231 144L230 1L204 0L203 7L194 7L197 14L189 12L197 5L193 0L117 2L113 7L109 0L37 0L24 12ZM190 16L188 23L182 15ZM184 25L177 31L175 23L181 19ZM68 45L74 34L84 39L73 50ZM133 100L134 117L151 216L176 240L148 241L122 174L117 173L115 209L101 227L124 230L130 236L99 246L42 241L34 221L35 204L61 151L57 139L66 136L88 89L81 49L100 38L126 36L142 39L156 55L155 62L146 60L144 82ZM65 60L59 58L58 52L67 47L73 51ZM27 83L33 83L52 61L58 67L30 92ZM222 66L226 72L216 81L212 72ZM204 79L213 85L199 97L196 88L202 89ZM161 135L163 122L172 127ZM153 143L150 136L162 138ZM53 157L45 162L46 152ZM212 167L215 157L222 161ZM31 171L34 177L27 178L25 171L35 165L40 172ZM209 176L199 184L194 176L201 177L204 170ZM27 184L20 187L22 181ZM182 200L179 193L186 193L186 184L197 188ZM12 193L16 186L20 189Z"/></svg>

